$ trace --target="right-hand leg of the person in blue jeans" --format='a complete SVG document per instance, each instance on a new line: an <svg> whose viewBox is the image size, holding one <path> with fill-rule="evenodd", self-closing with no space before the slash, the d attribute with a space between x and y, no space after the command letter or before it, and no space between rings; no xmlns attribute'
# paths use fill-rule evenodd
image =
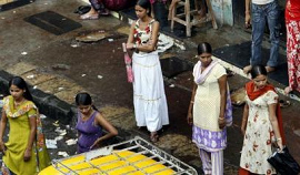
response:
<svg viewBox="0 0 300 175"><path fill-rule="evenodd" d="M267 71L271 72L274 71L274 68L278 65L279 59L279 6L277 1L273 1L266 6L266 14L268 19L268 25L270 30L270 41L271 41L271 49L270 49L270 59L267 63Z"/></svg>

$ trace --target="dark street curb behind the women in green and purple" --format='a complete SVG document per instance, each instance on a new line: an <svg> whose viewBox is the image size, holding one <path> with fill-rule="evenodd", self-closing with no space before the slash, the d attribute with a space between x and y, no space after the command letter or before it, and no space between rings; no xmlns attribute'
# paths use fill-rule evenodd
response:
<svg viewBox="0 0 300 175"><path fill-rule="evenodd" d="M12 74L0 70L0 93L3 95L9 94L9 81L13 78ZM33 89L28 84L31 95L36 105L39 107L39 112L49 116L52 120L58 120L61 124L69 124L74 116L74 106L58 99L52 94L42 92L41 90Z"/></svg>

